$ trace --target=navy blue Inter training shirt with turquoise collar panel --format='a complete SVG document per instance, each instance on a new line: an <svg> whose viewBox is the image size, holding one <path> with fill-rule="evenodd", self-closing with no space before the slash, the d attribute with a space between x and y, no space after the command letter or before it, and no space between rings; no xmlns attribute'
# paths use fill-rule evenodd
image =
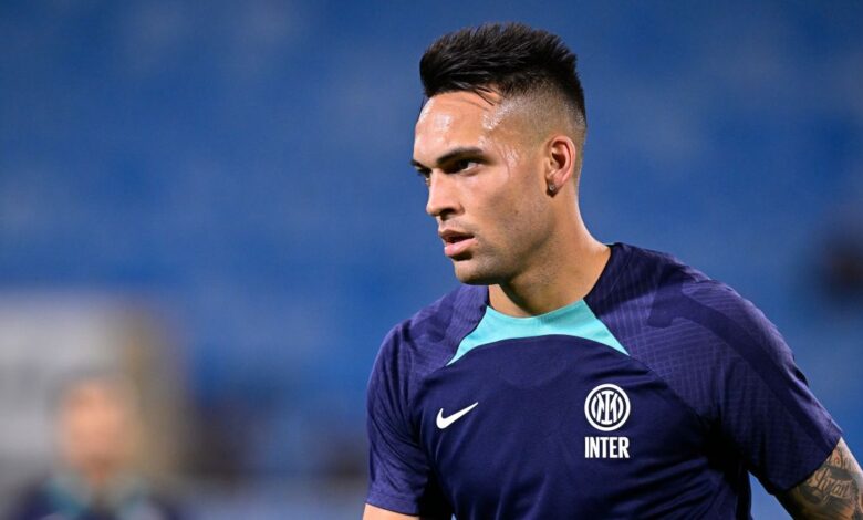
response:
<svg viewBox="0 0 863 520"><path fill-rule="evenodd" d="M461 285L384 340L366 501L468 519L749 518L841 431L776 327L676 259L613 245L591 292L512 318Z"/></svg>

